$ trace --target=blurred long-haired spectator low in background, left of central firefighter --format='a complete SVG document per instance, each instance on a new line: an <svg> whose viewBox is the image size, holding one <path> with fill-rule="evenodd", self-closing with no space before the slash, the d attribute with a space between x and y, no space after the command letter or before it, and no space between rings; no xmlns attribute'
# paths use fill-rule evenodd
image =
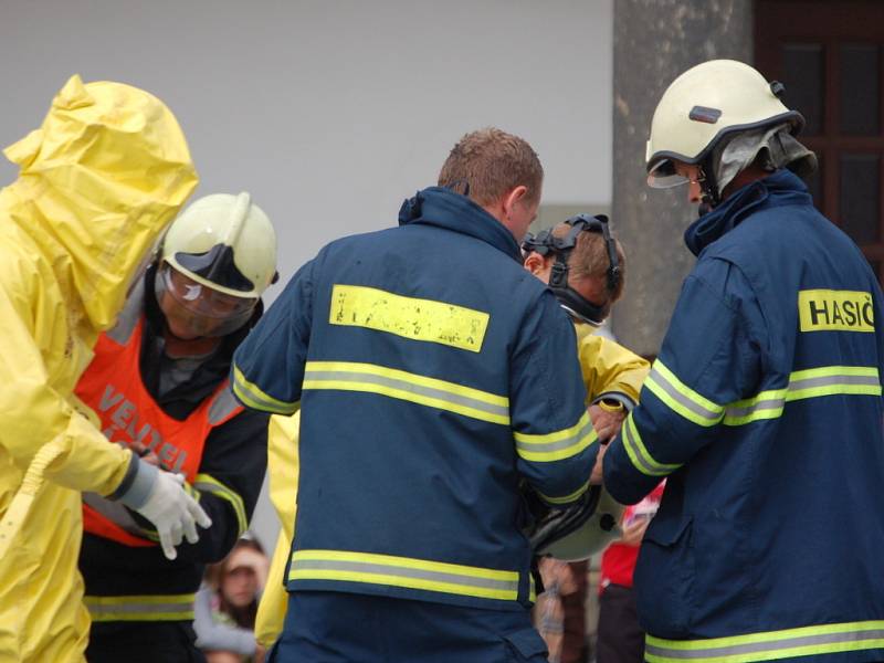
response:
<svg viewBox="0 0 884 663"><path fill-rule="evenodd" d="M255 642L257 602L267 579L267 556L246 536L222 561L206 572L197 593L193 630L208 663L261 663L264 649Z"/></svg>

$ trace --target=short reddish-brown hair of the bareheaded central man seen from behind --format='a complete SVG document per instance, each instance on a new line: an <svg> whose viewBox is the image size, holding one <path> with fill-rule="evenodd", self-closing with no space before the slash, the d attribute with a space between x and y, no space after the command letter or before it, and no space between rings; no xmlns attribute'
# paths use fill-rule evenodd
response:
<svg viewBox="0 0 884 663"><path fill-rule="evenodd" d="M516 187L526 199L540 200L544 168L530 145L494 127L466 134L455 145L439 173L439 186L466 192L478 204L493 204Z"/></svg>

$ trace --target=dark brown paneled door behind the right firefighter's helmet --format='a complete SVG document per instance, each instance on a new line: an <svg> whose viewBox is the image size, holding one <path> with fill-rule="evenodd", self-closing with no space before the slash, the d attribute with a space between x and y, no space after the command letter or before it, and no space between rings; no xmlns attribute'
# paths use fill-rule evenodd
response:
<svg viewBox="0 0 884 663"><path fill-rule="evenodd" d="M884 1L757 0L756 66L786 85L820 170L817 207L884 278Z"/></svg>

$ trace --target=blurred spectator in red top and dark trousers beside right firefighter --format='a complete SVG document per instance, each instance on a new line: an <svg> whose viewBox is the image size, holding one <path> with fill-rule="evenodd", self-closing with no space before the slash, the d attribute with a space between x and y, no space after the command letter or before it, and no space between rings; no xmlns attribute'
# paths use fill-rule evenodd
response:
<svg viewBox="0 0 884 663"><path fill-rule="evenodd" d="M623 512L623 536L608 546L601 558L597 663L644 661L644 631L639 625L632 573L648 524L663 497L663 481L644 499Z"/></svg>

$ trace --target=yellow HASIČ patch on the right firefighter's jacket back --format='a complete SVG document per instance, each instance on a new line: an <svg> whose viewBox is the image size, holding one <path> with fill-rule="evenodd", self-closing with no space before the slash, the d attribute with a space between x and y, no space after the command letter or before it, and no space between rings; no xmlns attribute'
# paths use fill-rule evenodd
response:
<svg viewBox="0 0 884 663"><path fill-rule="evenodd" d="M872 293L806 290L798 293L801 332L874 332Z"/></svg>

